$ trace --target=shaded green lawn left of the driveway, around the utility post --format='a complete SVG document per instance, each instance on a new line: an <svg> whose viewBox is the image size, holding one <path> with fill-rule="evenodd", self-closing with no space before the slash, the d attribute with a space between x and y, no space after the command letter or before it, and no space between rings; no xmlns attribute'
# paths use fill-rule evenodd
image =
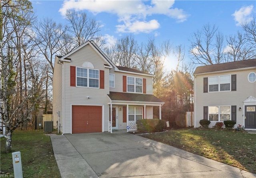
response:
<svg viewBox="0 0 256 178"><path fill-rule="evenodd" d="M13 176L12 153L4 153L5 139L1 138L1 174ZM60 178L49 136L40 130L16 130L12 133L12 152L20 151L23 177Z"/></svg>

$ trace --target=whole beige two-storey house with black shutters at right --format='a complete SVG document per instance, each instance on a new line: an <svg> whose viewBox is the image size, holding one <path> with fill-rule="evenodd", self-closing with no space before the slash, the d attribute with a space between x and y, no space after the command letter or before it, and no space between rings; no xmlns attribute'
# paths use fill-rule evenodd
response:
<svg viewBox="0 0 256 178"><path fill-rule="evenodd" d="M197 67L194 72L194 127L201 119L233 120L256 130L256 59Z"/></svg>

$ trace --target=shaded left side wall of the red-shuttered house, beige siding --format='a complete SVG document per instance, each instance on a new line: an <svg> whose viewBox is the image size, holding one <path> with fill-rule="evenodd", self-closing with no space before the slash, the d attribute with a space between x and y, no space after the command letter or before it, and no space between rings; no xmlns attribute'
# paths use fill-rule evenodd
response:
<svg viewBox="0 0 256 178"><path fill-rule="evenodd" d="M53 115L53 125L57 125L58 114L60 111L60 131L62 132L62 65L57 63L58 58L56 57L54 63L54 74L53 74L53 83L52 83L52 115ZM58 128L58 127L57 127Z"/></svg>

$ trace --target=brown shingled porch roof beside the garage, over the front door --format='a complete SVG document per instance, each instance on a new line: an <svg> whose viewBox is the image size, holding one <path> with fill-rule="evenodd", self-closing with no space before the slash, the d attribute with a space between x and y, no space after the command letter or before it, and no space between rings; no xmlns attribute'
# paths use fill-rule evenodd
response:
<svg viewBox="0 0 256 178"><path fill-rule="evenodd" d="M108 97L112 101L122 102L151 102L164 104L161 100L156 98L152 94L134 94L134 93L122 93L122 92L109 92Z"/></svg>

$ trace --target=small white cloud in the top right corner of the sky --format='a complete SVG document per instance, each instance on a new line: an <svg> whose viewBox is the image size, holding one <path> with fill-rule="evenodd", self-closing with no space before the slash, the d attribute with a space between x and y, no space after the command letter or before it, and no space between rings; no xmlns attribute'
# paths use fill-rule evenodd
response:
<svg viewBox="0 0 256 178"><path fill-rule="evenodd" d="M252 20L253 5L242 7L236 10L232 16L236 21L236 25L239 26L241 23L250 22Z"/></svg>

